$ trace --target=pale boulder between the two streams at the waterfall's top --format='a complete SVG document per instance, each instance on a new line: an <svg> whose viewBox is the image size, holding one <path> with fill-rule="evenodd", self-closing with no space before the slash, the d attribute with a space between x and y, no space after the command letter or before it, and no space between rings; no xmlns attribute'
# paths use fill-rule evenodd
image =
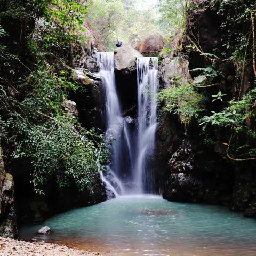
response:
<svg viewBox="0 0 256 256"><path fill-rule="evenodd" d="M136 69L137 58L140 57L143 57L143 55L141 55L137 50L133 49L133 47L128 45L124 45L115 49L115 70L131 73Z"/></svg>

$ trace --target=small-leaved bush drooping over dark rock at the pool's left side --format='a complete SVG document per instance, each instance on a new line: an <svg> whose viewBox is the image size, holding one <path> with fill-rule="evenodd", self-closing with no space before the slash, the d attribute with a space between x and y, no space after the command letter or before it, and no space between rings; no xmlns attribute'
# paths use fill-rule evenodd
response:
<svg viewBox="0 0 256 256"><path fill-rule="evenodd" d="M84 129L75 130L73 123L65 118L45 120L40 125L26 122L17 114L12 118L9 129L17 131L17 142L11 156L33 159L31 182L37 193L43 193L43 185L49 178L54 178L60 188L71 184L80 190L93 187L98 175L97 161L105 160L102 137ZM89 136L100 141L97 146Z"/></svg>

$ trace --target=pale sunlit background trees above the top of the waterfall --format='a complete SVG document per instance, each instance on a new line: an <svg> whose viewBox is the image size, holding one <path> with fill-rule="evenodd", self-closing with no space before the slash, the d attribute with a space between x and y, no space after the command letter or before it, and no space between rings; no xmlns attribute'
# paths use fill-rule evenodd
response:
<svg viewBox="0 0 256 256"><path fill-rule="evenodd" d="M154 34L166 40L185 28L188 0L95 0L89 5L87 21L100 34L106 49L114 49L117 39L136 46Z"/></svg>

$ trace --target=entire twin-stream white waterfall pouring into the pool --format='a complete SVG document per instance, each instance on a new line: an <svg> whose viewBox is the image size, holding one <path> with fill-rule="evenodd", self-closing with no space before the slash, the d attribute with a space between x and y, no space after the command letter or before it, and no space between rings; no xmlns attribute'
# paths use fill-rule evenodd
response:
<svg viewBox="0 0 256 256"><path fill-rule="evenodd" d="M150 157L154 153L157 127L158 58L137 60L138 121L135 131L130 130L133 118L122 115L115 83L114 52L98 52L96 58L100 67L98 75L106 95L105 136L111 140L111 161L107 175L100 172L101 179L116 197L152 193L154 182Z"/></svg>

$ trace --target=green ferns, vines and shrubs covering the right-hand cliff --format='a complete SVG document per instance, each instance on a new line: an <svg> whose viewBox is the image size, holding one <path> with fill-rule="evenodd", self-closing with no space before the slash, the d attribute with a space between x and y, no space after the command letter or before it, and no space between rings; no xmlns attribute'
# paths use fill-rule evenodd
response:
<svg viewBox="0 0 256 256"><path fill-rule="evenodd" d="M165 110L177 113L180 116L193 116L197 123L203 127L204 136L214 140L215 134L220 129L230 130L228 156L233 160L248 160L255 157L255 12L254 1L206 1L204 6L216 12L222 17L221 43L218 49L212 49L211 53L202 50L200 42L193 35L193 28L187 26L187 30L181 36L187 37L189 45L185 45L185 51L189 54L201 55L204 67L190 70L193 79L185 83L174 82L175 87L163 89L159 94L159 100L164 100ZM189 6L187 13L197 10L198 6ZM224 18L225 17L225 18ZM221 18L219 18L221 19ZM200 26L200 25L199 25ZM192 38L192 39L191 39ZM180 45L179 45L180 47ZM167 52L176 51L170 49ZM186 55L183 56L186 58ZM226 77L225 71L233 66L235 77ZM250 70L250 71L249 71ZM232 84L233 90L229 86ZM212 93L211 93L212 92ZM215 93L214 93L215 92ZM195 106L184 103L183 99L207 99L207 111L203 111L203 105ZM178 95L178 96L177 96ZM195 97L199 95L199 97ZM231 100L230 100L231 98ZM183 103L181 103L183 102ZM185 100L186 102L186 100ZM194 102L193 102L194 103ZM186 111L188 110L188 111ZM206 116L204 117L204 114ZM181 118L182 120L182 118ZM182 120L185 124L186 121ZM232 140L232 138L237 138ZM242 139L246 138L246 139ZM233 142L234 141L234 142ZM231 150L230 150L231 149ZM230 153L231 151L231 153Z"/></svg>

